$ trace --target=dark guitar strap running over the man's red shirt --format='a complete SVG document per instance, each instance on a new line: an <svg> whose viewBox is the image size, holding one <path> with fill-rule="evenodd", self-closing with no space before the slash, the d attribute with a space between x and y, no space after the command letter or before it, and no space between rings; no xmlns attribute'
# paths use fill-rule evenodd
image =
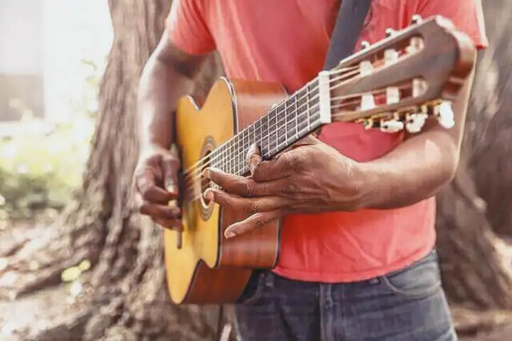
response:
<svg viewBox="0 0 512 341"><path fill-rule="evenodd" d="M331 70L356 48L371 0L341 0L324 70Z"/></svg>

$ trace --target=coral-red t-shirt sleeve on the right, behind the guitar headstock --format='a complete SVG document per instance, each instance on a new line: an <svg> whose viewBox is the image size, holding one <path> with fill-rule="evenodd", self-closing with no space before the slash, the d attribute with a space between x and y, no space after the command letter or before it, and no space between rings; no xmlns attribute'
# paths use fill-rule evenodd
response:
<svg viewBox="0 0 512 341"><path fill-rule="evenodd" d="M416 13L422 18L444 16L473 39L477 48L486 48L489 45L481 0L418 0Z"/></svg>

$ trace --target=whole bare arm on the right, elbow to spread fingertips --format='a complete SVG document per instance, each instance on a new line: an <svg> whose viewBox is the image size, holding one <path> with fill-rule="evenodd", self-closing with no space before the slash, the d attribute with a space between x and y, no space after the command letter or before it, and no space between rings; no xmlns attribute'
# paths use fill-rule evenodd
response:
<svg viewBox="0 0 512 341"><path fill-rule="evenodd" d="M471 73L454 102L451 130L430 121L420 135L407 137L375 161L356 162L309 137L269 161L255 148L248 157L250 178L206 169L206 177L224 189L207 189L206 198L250 214L229 226L225 236L294 212L393 209L432 196L457 169L472 79Z"/></svg>

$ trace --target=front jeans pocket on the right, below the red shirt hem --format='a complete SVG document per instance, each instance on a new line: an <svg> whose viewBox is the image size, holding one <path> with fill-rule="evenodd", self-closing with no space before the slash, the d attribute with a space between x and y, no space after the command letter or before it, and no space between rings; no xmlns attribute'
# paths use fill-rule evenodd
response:
<svg viewBox="0 0 512 341"><path fill-rule="evenodd" d="M397 295L411 298L432 295L441 286L437 253L432 251L420 261L403 270L389 273L382 279L384 285Z"/></svg>

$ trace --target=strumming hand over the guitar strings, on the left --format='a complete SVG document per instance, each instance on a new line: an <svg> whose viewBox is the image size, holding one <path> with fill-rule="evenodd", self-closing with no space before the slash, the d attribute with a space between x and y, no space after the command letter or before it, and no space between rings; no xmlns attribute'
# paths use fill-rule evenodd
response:
<svg viewBox="0 0 512 341"><path fill-rule="evenodd" d="M181 231L181 210L169 202L178 198L179 159L176 152L159 146L141 150L133 188L139 212L167 229Z"/></svg>

